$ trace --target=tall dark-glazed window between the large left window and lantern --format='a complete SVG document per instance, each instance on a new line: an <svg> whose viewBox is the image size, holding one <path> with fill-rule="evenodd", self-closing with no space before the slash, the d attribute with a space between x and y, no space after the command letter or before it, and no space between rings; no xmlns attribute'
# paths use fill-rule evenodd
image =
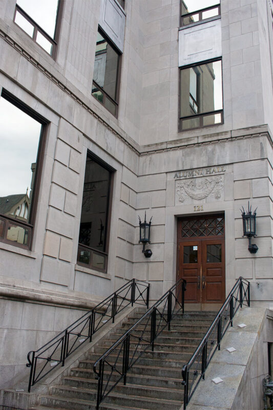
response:
<svg viewBox="0 0 273 410"><path fill-rule="evenodd" d="M112 169L87 154L79 228L78 263L106 272Z"/></svg>

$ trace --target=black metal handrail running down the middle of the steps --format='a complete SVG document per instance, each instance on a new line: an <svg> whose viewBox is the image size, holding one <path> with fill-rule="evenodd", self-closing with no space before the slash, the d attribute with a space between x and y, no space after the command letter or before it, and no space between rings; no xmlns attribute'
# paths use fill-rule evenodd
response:
<svg viewBox="0 0 273 410"><path fill-rule="evenodd" d="M93 371L98 380L97 409L121 379L126 384L127 372L151 345L154 351L155 339L166 326L170 330L171 320L177 313L180 310L184 313L185 285L186 281L179 279L95 362ZM145 335L146 332L148 334Z"/></svg>

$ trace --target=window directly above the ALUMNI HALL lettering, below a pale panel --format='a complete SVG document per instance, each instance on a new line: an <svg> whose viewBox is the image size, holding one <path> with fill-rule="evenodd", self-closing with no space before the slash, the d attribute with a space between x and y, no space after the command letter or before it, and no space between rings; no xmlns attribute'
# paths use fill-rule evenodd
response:
<svg viewBox="0 0 273 410"><path fill-rule="evenodd" d="M222 61L181 68L179 130L222 122Z"/></svg>

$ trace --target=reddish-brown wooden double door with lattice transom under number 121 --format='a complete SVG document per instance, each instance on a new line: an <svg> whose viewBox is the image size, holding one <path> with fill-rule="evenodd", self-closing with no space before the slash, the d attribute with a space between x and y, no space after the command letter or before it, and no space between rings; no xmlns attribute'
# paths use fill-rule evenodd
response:
<svg viewBox="0 0 273 410"><path fill-rule="evenodd" d="M186 303L202 308L224 302L224 245L223 216L179 220L177 277L187 281Z"/></svg>

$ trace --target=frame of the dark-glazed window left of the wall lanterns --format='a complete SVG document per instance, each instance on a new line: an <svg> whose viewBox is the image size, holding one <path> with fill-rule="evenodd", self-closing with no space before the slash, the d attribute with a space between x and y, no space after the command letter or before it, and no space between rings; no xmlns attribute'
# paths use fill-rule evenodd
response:
<svg viewBox="0 0 273 410"><path fill-rule="evenodd" d="M112 214L112 202L113 202L113 186L114 186L114 173L115 169L112 168L107 162L103 161L101 158L99 158L97 155L93 154L90 150L87 150L87 155L86 158L89 157L93 161L95 161L98 165L106 169L110 176L109 176L109 184L108 184L108 201L107 201L107 219L106 219L106 225L104 227L104 232L105 232L105 247L104 251L99 251L95 248L89 247L88 245L82 244L78 242L78 250L77 250L77 264L81 267L87 268L87 269L92 269L94 271L102 272L102 273L107 273L107 268L108 268L108 254L109 254L109 242L110 242L110 218ZM82 195L83 195L83 190L82 190ZM81 215L80 215L81 219ZM80 225L79 225L79 232L80 232ZM84 263L79 261L79 252L80 250L82 251L88 251L90 252L90 261L89 263ZM92 265L93 262L93 255L99 254L105 257L105 267L103 269L94 267Z"/></svg>

